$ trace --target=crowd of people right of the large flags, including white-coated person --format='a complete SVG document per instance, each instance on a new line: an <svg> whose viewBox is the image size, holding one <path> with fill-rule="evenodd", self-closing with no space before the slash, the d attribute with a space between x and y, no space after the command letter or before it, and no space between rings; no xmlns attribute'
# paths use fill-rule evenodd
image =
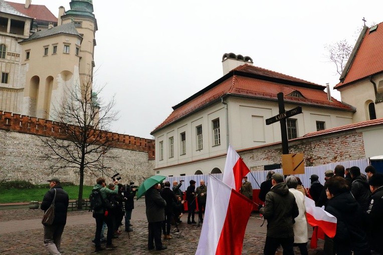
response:
<svg viewBox="0 0 383 255"><path fill-rule="evenodd" d="M270 171L259 194L259 211L268 221L264 254L275 254L280 245L283 254L294 254L294 246L308 254L305 196L337 219L335 236L325 236L325 254L383 254L383 174L373 166L365 173L337 165L325 171L324 185L312 174L306 189L298 177Z"/></svg>

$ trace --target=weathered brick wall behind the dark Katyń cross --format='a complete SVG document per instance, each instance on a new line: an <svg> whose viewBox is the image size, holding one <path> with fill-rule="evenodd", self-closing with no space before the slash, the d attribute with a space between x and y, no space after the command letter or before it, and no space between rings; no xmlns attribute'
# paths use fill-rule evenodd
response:
<svg viewBox="0 0 383 255"><path fill-rule="evenodd" d="M355 130L327 136L289 141L290 153L304 153L305 166L318 166L365 158L363 134ZM250 170L263 170L264 165L282 163L280 143L238 152Z"/></svg>

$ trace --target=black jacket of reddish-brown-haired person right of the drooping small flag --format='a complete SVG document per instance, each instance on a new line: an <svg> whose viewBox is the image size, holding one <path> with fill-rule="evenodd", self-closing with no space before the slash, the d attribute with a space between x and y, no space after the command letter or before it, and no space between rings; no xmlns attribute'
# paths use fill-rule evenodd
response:
<svg viewBox="0 0 383 255"><path fill-rule="evenodd" d="M353 250L356 254L366 254L363 252L367 252L369 247L366 234L362 230L363 215L352 194L344 192L332 197L328 200L325 210L337 219L335 251L338 254L346 254Z"/></svg>

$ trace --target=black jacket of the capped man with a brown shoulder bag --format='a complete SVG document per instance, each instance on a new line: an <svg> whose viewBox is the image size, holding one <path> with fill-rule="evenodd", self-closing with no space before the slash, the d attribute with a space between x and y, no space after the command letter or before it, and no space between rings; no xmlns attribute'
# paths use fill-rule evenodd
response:
<svg viewBox="0 0 383 255"><path fill-rule="evenodd" d="M55 220L53 221L53 225L60 225L67 223L67 211L69 205L69 196L68 193L61 187L61 185L56 185L47 193L45 193L43 201L41 202L40 208L46 211L53 201L55 196L56 189L56 199L55 199Z"/></svg>

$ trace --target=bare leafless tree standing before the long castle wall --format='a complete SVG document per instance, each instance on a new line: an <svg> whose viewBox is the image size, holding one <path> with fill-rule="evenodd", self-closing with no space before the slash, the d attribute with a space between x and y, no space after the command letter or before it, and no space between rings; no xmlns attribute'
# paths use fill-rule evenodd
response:
<svg viewBox="0 0 383 255"><path fill-rule="evenodd" d="M57 104L50 118L60 123L59 137L41 137L46 148L43 159L49 160L52 173L72 169L80 176L78 200L83 198L84 173L97 174L108 168L104 157L112 148L111 124L117 120L118 112L113 110L114 97L102 102L98 95L102 91L92 90L91 77L73 88L67 88L60 104ZM79 203L79 207L82 203Z"/></svg>

